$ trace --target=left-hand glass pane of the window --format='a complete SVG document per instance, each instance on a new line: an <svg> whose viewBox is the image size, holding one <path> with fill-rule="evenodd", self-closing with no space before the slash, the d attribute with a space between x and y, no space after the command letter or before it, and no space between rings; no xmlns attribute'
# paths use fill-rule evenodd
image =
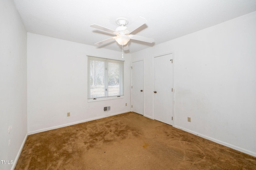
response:
<svg viewBox="0 0 256 170"><path fill-rule="evenodd" d="M104 62L90 61L90 97L104 97Z"/></svg>

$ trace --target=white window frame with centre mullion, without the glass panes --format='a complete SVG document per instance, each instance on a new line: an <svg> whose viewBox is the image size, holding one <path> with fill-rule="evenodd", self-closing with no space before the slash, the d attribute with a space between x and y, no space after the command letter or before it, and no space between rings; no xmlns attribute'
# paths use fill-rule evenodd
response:
<svg viewBox="0 0 256 170"><path fill-rule="evenodd" d="M96 102L96 101L101 101L101 100L112 100L112 99L118 99L118 98L124 98L124 61L120 61L120 60L114 60L114 59L106 59L106 58L101 58L101 57L94 57L94 56L90 56L87 55L87 70L88 70L88 74L87 74L87 86L88 86L88 92L87 92L87 98L88 98L88 102ZM90 94L90 61L102 61L104 62L105 66L104 66L104 89L106 89L104 91L105 95L104 96L98 96L98 97L91 97ZM120 77L119 77L119 94L116 96L108 96L108 63L118 63L120 66Z"/></svg>

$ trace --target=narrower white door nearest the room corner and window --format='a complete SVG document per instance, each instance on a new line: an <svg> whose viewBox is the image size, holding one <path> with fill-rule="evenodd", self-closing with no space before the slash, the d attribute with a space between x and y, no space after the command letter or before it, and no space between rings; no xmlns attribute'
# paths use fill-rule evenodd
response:
<svg viewBox="0 0 256 170"><path fill-rule="evenodd" d="M143 61L132 63L132 111L144 115Z"/></svg>

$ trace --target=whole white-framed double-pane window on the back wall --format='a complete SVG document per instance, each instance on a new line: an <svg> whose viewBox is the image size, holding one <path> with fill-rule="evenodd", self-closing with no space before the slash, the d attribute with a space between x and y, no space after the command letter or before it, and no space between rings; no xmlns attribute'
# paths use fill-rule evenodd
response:
<svg viewBox="0 0 256 170"><path fill-rule="evenodd" d="M88 57L88 99L124 95L124 61Z"/></svg>

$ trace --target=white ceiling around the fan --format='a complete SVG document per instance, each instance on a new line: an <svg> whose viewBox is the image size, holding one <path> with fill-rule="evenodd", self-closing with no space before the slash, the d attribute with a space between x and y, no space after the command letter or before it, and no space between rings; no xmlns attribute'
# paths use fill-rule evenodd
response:
<svg viewBox="0 0 256 170"><path fill-rule="evenodd" d="M151 44L130 40L130 50L126 51L129 53L256 11L256 0L14 0L14 3L28 32L93 46L113 35L90 27L91 24L115 30L116 18L125 17L132 23L142 16L147 23L132 34L155 41ZM122 51L116 41L99 47Z"/></svg>

